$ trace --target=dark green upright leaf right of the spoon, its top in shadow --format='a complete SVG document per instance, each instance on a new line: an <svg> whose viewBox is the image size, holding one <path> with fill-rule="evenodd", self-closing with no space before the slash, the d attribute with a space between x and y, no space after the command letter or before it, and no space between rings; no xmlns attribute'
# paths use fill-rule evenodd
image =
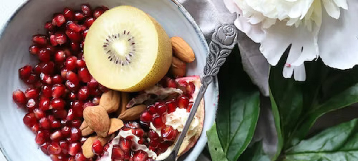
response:
<svg viewBox="0 0 358 161"><path fill-rule="evenodd" d="M236 161L251 142L260 113L260 94L244 72L238 50L219 72L217 132L226 157Z"/></svg>

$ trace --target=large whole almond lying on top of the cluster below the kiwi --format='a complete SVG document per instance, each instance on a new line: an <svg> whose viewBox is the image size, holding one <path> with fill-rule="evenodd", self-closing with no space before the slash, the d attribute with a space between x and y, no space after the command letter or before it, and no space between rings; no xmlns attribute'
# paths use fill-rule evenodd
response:
<svg viewBox="0 0 358 161"><path fill-rule="evenodd" d="M110 130L110 117L102 106L89 106L83 110L83 119L98 136L106 137Z"/></svg>

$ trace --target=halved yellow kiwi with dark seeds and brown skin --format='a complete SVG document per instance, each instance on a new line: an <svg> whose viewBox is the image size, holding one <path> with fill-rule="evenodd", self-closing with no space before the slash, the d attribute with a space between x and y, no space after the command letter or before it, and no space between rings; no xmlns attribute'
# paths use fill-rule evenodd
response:
<svg viewBox="0 0 358 161"><path fill-rule="evenodd" d="M158 83L168 72L172 48L160 24L132 6L107 10L84 40L87 68L103 86L136 92Z"/></svg>

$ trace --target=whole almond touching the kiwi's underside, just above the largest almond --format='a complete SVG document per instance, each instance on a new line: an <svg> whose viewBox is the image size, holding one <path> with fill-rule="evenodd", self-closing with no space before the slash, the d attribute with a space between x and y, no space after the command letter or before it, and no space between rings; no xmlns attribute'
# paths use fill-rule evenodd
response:
<svg viewBox="0 0 358 161"><path fill-rule="evenodd" d="M102 94L100 105L106 109L108 113L117 111L121 102L121 93L109 90Z"/></svg>

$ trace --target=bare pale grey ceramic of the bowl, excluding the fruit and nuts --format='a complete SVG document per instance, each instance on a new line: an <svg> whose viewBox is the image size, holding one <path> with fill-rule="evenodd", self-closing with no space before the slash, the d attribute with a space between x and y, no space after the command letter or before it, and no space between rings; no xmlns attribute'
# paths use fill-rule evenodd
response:
<svg viewBox="0 0 358 161"><path fill-rule="evenodd" d="M0 28L0 150L9 161L50 160L35 143L34 133L24 125L22 120L26 112L13 102L12 92L15 89L26 89L26 85L19 79L18 69L26 64L34 65L38 61L28 52L32 35L45 33L43 25L52 19L53 13L62 12L66 6L79 8L83 3L92 6L105 5L108 8L131 5L144 10L163 26L169 36L181 36L193 48L196 60L188 65L188 75L203 74L209 51L207 42L192 16L176 0L26 1L3 28ZM206 145L205 132L212 126L217 109L217 79L209 85L204 100L203 133L195 147L181 157L181 160L196 160Z"/></svg>

